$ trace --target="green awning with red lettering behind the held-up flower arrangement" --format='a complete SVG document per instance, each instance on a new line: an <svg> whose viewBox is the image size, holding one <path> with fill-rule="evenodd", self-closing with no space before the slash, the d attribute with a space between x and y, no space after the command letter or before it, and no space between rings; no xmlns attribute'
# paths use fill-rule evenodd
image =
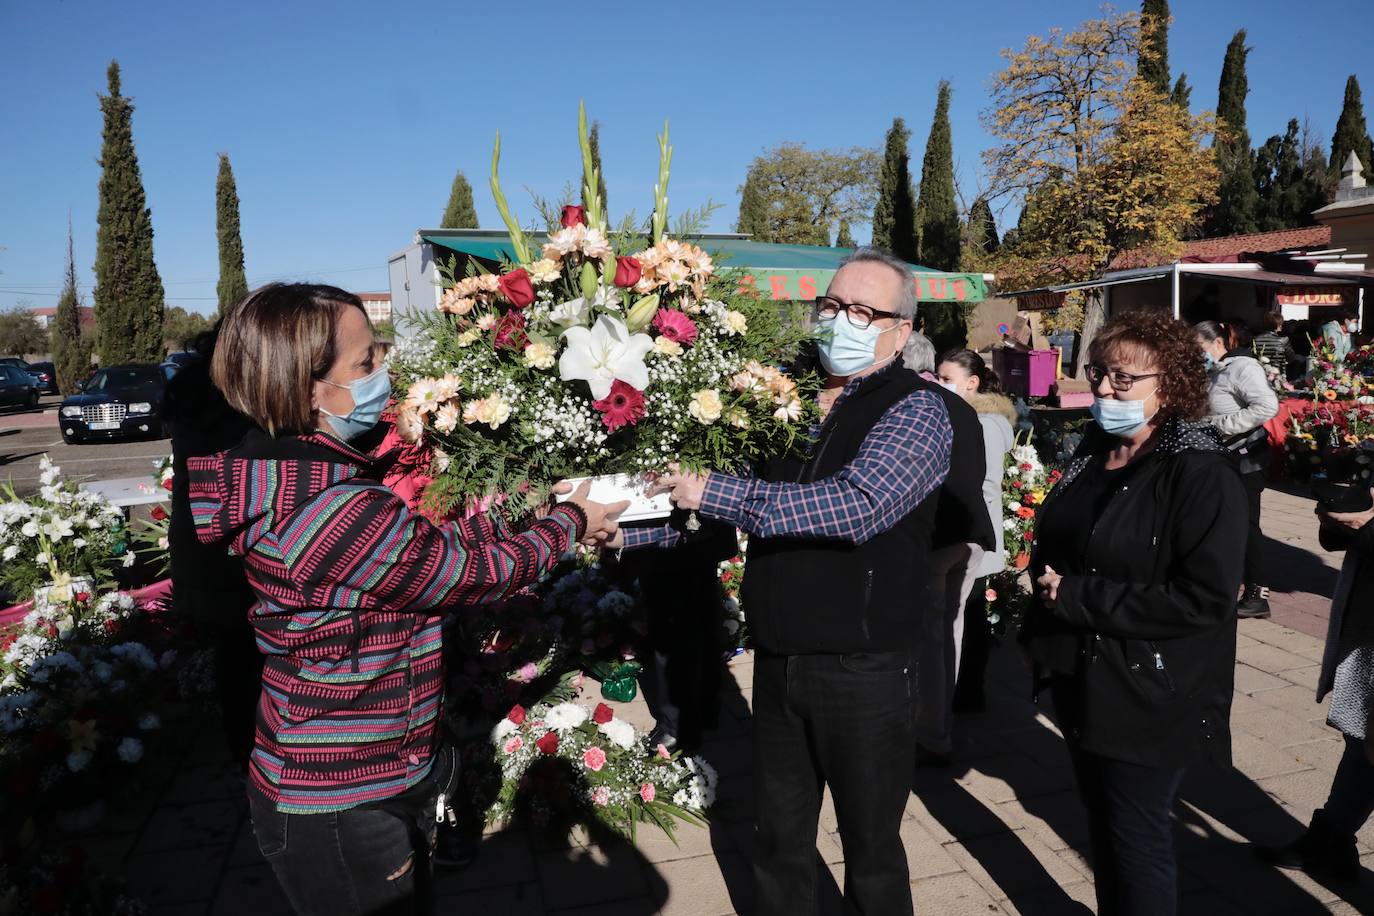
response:
<svg viewBox="0 0 1374 916"><path fill-rule="evenodd" d="M492 229L422 229L420 238L451 251L484 261L510 261L515 253L510 238ZM530 244L541 246L547 236L532 233ZM736 236L701 235L687 239L699 244L724 266L743 268L749 283L772 299L808 302L823 291L852 249L816 244L771 244ZM922 302L982 302L988 287L981 273L944 273L919 264L911 265L916 277L916 298Z"/></svg>

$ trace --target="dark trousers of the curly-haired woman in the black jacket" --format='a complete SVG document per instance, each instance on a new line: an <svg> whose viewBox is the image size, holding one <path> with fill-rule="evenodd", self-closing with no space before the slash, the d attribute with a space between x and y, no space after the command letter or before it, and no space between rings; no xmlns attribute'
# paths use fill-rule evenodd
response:
<svg viewBox="0 0 1374 916"><path fill-rule="evenodd" d="M1072 750L1088 809L1099 916L1173 916L1179 865L1169 813L1183 768L1142 766Z"/></svg>

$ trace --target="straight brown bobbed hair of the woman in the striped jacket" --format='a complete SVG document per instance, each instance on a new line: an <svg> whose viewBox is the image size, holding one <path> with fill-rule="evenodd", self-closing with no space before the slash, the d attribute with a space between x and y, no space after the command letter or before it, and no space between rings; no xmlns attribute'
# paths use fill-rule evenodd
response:
<svg viewBox="0 0 1374 916"><path fill-rule="evenodd" d="M349 306L367 316L363 299L335 286L269 283L250 293L220 324L210 378L272 435L312 431L311 386L338 357L335 325Z"/></svg>

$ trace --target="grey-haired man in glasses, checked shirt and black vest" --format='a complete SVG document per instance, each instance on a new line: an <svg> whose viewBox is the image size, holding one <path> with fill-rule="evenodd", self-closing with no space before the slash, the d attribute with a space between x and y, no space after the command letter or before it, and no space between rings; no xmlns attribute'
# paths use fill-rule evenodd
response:
<svg viewBox="0 0 1374 916"><path fill-rule="evenodd" d="M760 913L816 911L816 825L830 788L845 898L910 913L900 827L915 764L916 599L929 573L951 420L897 358L915 319L911 266L859 249L816 299L824 415L805 459L747 475L672 472L657 490L750 536L742 603L754 656ZM629 530L627 547L677 540Z"/></svg>

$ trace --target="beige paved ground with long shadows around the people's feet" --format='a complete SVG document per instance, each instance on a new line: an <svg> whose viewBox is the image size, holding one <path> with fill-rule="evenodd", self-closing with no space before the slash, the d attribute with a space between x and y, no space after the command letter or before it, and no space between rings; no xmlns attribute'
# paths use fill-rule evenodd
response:
<svg viewBox="0 0 1374 916"><path fill-rule="evenodd" d="M1265 494L1276 589L1272 621L1242 621L1232 713L1237 769L1190 773L1178 806L1182 909L1206 916L1369 913L1374 876L1320 886L1254 862L1248 842L1296 835L1319 806L1340 739L1314 702L1325 608L1337 558L1316 548L1311 503ZM624 843L550 849L518 832L485 838L478 862L440 876L440 913L691 913L752 909L749 696L752 663L727 678L728 715L705 753L721 772L709 829L679 846L644 831ZM1069 762L1052 722L1028 700L1014 652L995 654L992 700L959 720L956 766L922 772L903 823L918 913L1087 913L1092 873ZM642 703L629 713L647 721ZM242 790L207 729L162 762L142 801L93 838L158 913L202 916L289 909L247 828ZM1374 867L1374 825L1360 835ZM827 913L838 912L844 851L829 805L816 838Z"/></svg>

